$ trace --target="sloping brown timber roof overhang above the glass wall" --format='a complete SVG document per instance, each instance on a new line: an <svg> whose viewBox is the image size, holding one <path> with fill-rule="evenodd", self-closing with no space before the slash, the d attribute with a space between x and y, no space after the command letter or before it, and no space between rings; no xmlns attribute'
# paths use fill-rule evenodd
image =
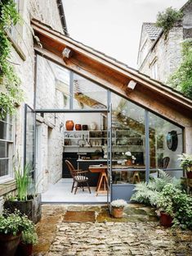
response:
<svg viewBox="0 0 192 256"><path fill-rule="evenodd" d="M42 48L34 45L37 53L181 126L192 126L189 98L40 21L33 20L32 27L42 44ZM63 55L65 48L70 50L68 57Z"/></svg>

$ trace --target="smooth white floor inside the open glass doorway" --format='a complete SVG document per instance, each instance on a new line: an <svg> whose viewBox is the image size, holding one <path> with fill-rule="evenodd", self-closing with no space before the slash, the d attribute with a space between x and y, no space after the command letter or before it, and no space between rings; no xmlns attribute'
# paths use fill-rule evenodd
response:
<svg viewBox="0 0 192 256"><path fill-rule="evenodd" d="M106 194L96 196L96 187L91 187L92 194L87 188L78 189L77 193L71 193L73 179L60 179L56 184L50 185L49 189L42 193L42 203L105 203Z"/></svg>

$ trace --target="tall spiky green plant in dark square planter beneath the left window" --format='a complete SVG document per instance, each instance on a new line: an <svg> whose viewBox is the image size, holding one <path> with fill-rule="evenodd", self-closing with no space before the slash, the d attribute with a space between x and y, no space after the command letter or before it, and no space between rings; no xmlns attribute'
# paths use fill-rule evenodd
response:
<svg viewBox="0 0 192 256"><path fill-rule="evenodd" d="M12 213L17 208L20 213L27 215L31 221L37 223L42 215L41 194L36 194L35 191L32 193L34 185L29 165L25 165L22 171L18 164L14 171L17 194L5 199L4 208Z"/></svg>

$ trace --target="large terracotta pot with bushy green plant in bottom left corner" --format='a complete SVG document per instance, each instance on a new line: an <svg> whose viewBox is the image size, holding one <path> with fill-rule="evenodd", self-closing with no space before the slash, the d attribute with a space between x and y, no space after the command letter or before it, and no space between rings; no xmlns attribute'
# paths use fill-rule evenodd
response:
<svg viewBox="0 0 192 256"><path fill-rule="evenodd" d="M0 254L1 256L14 256L20 243L22 231L31 228L32 223L20 211L14 213L4 212L0 215Z"/></svg>

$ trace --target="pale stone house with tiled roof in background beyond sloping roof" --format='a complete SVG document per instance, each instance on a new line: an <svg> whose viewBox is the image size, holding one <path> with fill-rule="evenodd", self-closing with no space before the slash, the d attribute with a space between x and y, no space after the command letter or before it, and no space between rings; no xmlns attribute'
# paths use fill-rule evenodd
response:
<svg viewBox="0 0 192 256"><path fill-rule="evenodd" d="M181 42L192 38L192 1L181 7L183 19L165 37L154 23L143 23L137 58L139 71L167 83L168 77L181 63Z"/></svg>

